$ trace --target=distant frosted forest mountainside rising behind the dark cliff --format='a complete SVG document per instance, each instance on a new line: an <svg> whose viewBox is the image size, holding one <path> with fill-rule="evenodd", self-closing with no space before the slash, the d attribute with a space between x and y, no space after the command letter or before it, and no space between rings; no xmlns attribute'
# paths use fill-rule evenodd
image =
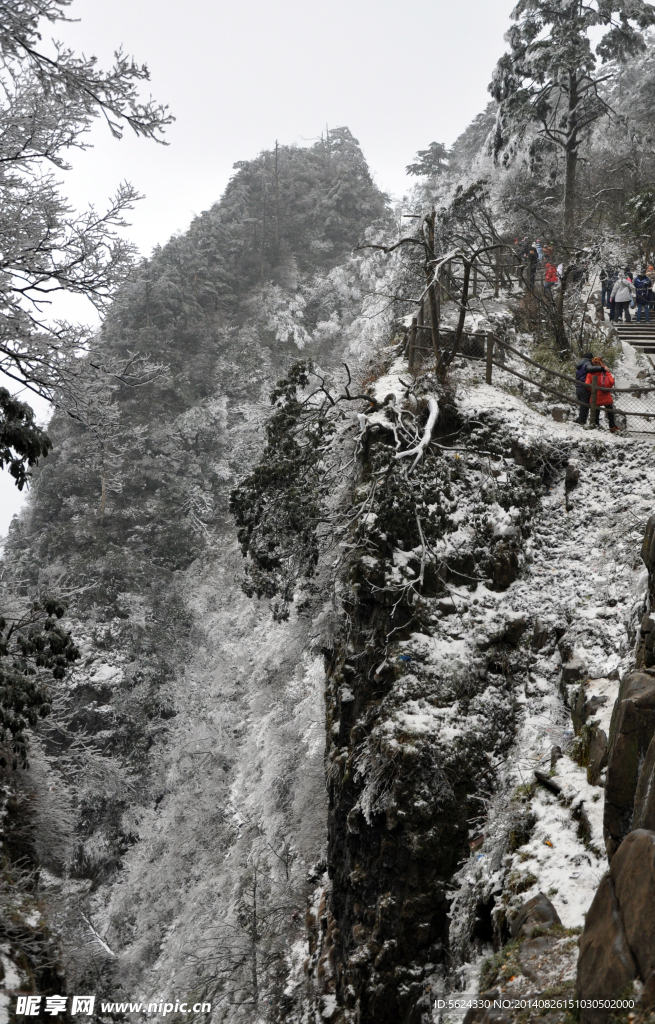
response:
<svg viewBox="0 0 655 1024"><path fill-rule="evenodd" d="M69 987L194 996L222 1019L289 971L324 848L322 669L310 620L243 593L227 498L289 362L341 357L361 282L340 264L387 216L348 129L236 165L89 356L147 356L149 383L50 425L3 582L63 593L82 659L9 777L5 826L14 870L48 869L33 897Z"/></svg>

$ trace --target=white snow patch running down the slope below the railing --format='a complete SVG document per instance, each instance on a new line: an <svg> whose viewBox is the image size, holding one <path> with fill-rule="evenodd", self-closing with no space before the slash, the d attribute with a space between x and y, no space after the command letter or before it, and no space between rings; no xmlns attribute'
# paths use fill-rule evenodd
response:
<svg viewBox="0 0 655 1024"><path fill-rule="evenodd" d="M621 362L621 382L631 383L637 369L628 352ZM585 672L581 681L586 699L607 698L588 721L608 733L619 686L619 679L608 677L622 678L632 666L631 630L646 593L639 552L646 521L655 507L655 435L617 437L605 429L588 431L575 423L555 422L520 397L486 385L480 373L475 367L462 373L467 387L458 398L461 413L471 420L501 422L503 431L509 431L519 450L540 442L555 445L564 463L567 458L576 461L580 477L567 503L564 473L554 474L549 493L533 513L531 536L524 545L526 564L515 583L495 594L478 587L476 608L451 616L458 618L452 632L461 638L461 657L462 647L473 648L476 634L480 638L493 635L498 624L517 610L531 625L538 620L549 633L540 649L531 643L531 631L522 641L529 648L529 669L517 695L516 741L500 767L496 792L489 798L481 824L484 838L458 872L452 894L451 940L453 944L461 941L462 950L467 950L461 977L453 976L452 983L469 992L475 990L480 962L490 947L471 943L463 934L466 907L494 895L495 905L503 899L511 916L542 892L552 899L565 927L580 928L607 869L604 793L602 785L588 783L586 770L570 756L574 736L567 688L561 683L562 666L577 656ZM500 373L498 378L500 383ZM429 639L426 645L430 646ZM442 656L443 641L435 647ZM573 689L569 687L571 695ZM552 769L554 746L561 748L564 756L556 756ZM553 772L553 781L561 788L559 796L535 783L535 769L547 776ZM512 808L531 815L532 827L526 841L509 851ZM567 955L571 974L575 955Z"/></svg>

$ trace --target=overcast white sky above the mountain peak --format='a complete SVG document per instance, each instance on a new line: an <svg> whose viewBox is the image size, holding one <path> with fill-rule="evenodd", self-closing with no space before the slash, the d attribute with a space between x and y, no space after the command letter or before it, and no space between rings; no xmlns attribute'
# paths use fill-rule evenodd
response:
<svg viewBox="0 0 655 1024"><path fill-rule="evenodd" d="M148 255L219 199L237 160L348 125L378 184L402 196L405 165L450 144L488 101L515 0L74 0L80 22L49 26L107 66L115 49L150 70L176 117L168 146L98 122L64 175L76 206L122 180L145 199L129 236ZM0 535L19 496L0 474Z"/></svg>

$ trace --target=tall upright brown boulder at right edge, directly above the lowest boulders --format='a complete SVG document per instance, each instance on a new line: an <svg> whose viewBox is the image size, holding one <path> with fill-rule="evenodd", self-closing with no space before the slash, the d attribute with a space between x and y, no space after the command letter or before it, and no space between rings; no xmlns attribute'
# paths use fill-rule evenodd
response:
<svg viewBox="0 0 655 1024"><path fill-rule="evenodd" d="M641 763L655 733L655 677L630 672L620 685L607 751L603 830L610 860L632 825Z"/></svg>

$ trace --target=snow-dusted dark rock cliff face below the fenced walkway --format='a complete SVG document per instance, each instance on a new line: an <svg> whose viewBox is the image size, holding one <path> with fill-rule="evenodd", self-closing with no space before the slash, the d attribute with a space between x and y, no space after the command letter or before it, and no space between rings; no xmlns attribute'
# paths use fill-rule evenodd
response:
<svg viewBox="0 0 655 1024"><path fill-rule="evenodd" d="M344 1020L430 1019L428 991L475 988L476 963L531 896L579 930L607 864L590 744L634 659L652 444L544 420L470 371L465 382L457 447L431 449L359 523L329 668L337 967L323 984ZM397 408L393 373L376 394ZM364 487L386 416L363 425ZM562 943L553 971L570 988Z"/></svg>

